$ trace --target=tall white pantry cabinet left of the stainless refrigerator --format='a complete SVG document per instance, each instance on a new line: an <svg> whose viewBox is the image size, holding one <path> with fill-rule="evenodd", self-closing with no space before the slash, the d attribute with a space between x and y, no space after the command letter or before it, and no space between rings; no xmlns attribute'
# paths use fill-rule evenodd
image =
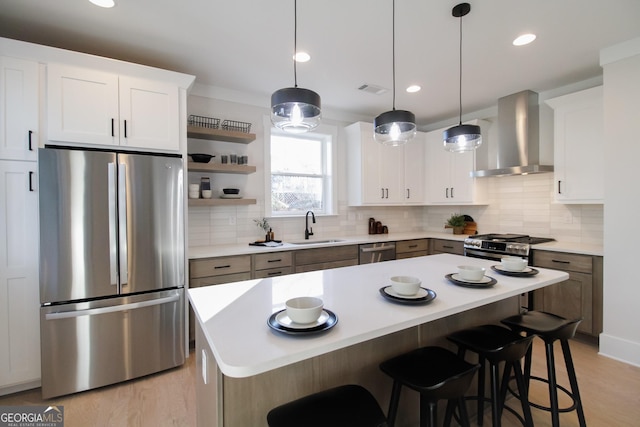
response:
<svg viewBox="0 0 640 427"><path fill-rule="evenodd" d="M40 381L38 69L0 56L0 394Z"/></svg>

